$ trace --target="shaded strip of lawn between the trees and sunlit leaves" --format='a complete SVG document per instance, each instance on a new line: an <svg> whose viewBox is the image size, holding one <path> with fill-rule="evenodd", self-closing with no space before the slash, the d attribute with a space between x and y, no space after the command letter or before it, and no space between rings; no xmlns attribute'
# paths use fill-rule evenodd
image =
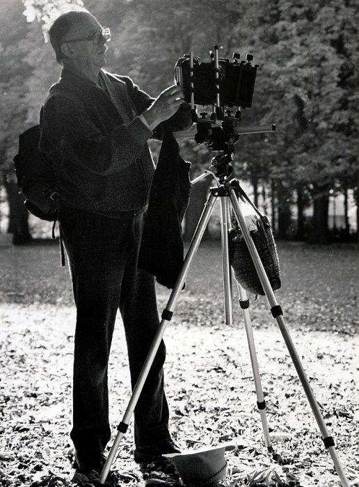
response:
<svg viewBox="0 0 359 487"><path fill-rule="evenodd" d="M19 246L0 249L0 252L3 262L0 302L72 305L68 266L61 268L58 246ZM278 255L282 288L276 296L289 323L296 328L356 333L357 247L354 244L308 246L280 242ZM203 324L221 322L221 266L220 242L203 242L189 270L186 289L179 297L178 314L185 321L189 314L196 314L198 303L202 303L202 308L213 308ZM160 307L168 295L168 289L158 287ZM253 303L255 324L266 326L267 309L263 297ZM200 316L196 321L200 321Z"/></svg>

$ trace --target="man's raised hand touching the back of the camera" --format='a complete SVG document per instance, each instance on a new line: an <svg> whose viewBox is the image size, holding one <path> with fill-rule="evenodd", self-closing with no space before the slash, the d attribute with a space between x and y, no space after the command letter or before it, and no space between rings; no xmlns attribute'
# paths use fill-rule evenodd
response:
<svg viewBox="0 0 359 487"><path fill-rule="evenodd" d="M163 120L170 118L180 104L183 103L183 91L177 85L172 85L154 100L149 109L143 112L145 120L151 130L157 127Z"/></svg>

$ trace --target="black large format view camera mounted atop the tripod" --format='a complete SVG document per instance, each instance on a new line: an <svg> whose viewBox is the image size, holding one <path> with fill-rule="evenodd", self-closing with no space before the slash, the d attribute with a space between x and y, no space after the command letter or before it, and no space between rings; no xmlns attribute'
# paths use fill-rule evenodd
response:
<svg viewBox="0 0 359 487"><path fill-rule="evenodd" d="M246 59L241 61L240 55L234 53L232 63L228 59L218 58L218 45L209 54L209 63L201 63L191 53L179 58L175 65L175 81L184 91L184 101L191 103L196 130L190 129L174 135L177 138L194 136L197 143L206 144L209 149L218 151L219 154L212 159L212 166L216 166L215 175L229 177L232 173L230 162L234 159L234 144L239 136L274 131L276 125L240 127L241 109L252 106L258 67L251 64L252 54L247 54ZM198 118L197 105L212 105L211 115L202 111ZM234 115L233 107L237 107Z"/></svg>

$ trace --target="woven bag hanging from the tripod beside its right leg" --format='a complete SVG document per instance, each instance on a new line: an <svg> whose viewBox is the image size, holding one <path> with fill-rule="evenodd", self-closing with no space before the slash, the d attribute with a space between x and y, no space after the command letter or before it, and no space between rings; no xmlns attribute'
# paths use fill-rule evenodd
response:
<svg viewBox="0 0 359 487"><path fill-rule="evenodd" d="M242 201L245 203L248 202L255 210L255 213L252 211L250 218L246 218L246 223L248 225L248 230L250 230L250 236L257 248L260 260L264 266L264 270L266 271L266 275L269 278L271 287L273 291L275 291L280 288L281 282L278 254L276 243L273 239L271 224L269 223L268 218L263 215L255 205L253 205L240 186L239 195L241 196ZM230 264L234 271L234 277L246 291L264 296L264 289L253 264L252 257L250 257L246 241L238 226L237 218L234 217L232 225L233 227L229 231L228 246Z"/></svg>

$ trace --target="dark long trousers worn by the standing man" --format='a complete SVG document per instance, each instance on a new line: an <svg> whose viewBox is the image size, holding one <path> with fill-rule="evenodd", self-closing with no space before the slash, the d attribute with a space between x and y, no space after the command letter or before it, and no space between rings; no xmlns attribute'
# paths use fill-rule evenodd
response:
<svg viewBox="0 0 359 487"><path fill-rule="evenodd" d="M68 207L60 211L77 308L70 436L78 451L103 451L111 438L107 370L118 308L132 388L159 327L154 278L137 268L143 220L143 215L108 218ZM134 411L137 448L155 447L170 437L165 358L162 341Z"/></svg>

